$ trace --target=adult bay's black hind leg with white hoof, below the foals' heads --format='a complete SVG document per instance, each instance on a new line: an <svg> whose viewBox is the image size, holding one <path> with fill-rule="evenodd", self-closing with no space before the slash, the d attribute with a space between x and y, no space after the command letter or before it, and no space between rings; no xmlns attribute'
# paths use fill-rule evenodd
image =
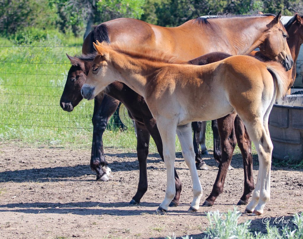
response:
<svg viewBox="0 0 303 239"><path fill-rule="evenodd" d="M107 162L105 160L102 135L106 129L109 118L117 109L119 101L108 95L98 95L95 97L94 103L90 166L92 170L97 173L97 181L108 181L111 176L111 169L107 166Z"/></svg>

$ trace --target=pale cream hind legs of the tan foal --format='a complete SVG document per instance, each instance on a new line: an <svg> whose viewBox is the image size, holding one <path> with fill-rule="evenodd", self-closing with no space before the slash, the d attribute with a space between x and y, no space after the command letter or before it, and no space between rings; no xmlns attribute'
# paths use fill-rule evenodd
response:
<svg viewBox="0 0 303 239"><path fill-rule="evenodd" d="M256 188L245 212L261 215L266 202L270 199L270 169L273 145L262 119L245 123L248 134L255 144L259 158L259 171Z"/></svg>

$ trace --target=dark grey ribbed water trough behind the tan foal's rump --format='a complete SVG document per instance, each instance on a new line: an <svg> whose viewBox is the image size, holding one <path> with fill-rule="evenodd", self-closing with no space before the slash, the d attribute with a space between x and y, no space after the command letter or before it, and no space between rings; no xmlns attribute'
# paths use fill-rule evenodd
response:
<svg viewBox="0 0 303 239"><path fill-rule="evenodd" d="M303 95L287 95L276 102L269 115L273 158L303 159Z"/></svg>

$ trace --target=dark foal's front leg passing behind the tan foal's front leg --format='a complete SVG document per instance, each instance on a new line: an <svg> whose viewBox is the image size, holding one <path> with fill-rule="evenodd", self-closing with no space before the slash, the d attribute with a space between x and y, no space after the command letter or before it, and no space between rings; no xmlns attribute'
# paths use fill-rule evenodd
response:
<svg viewBox="0 0 303 239"><path fill-rule="evenodd" d="M155 141L156 147L158 149L158 152L160 154L160 157L162 160L164 160L163 157L163 144L162 144L162 139L161 135L159 133L159 130L157 128L156 120L154 118L149 117L149 118L144 118L144 123L145 127L147 128L148 132L151 134L151 137ZM182 190L182 184L179 179L178 173L174 167L174 172L175 172L175 189L176 189L176 194L174 199L170 202L169 207L177 207L179 205L179 199L181 195L181 190Z"/></svg>

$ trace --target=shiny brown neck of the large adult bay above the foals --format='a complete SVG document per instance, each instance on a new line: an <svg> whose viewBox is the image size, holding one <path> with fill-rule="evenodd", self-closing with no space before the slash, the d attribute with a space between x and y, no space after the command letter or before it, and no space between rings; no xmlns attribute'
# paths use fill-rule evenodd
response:
<svg viewBox="0 0 303 239"><path fill-rule="evenodd" d="M265 39L266 30L269 22L273 18L268 17L234 17L234 18L211 18L210 26L202 28L208 36L215 36L225 39L225 48L229 49L229 54L245 55L257 48ZM230 29L230 30L228 30ZM201 31L201 30L200 30ZM208 31L211 31L208 33ZM204 41L201 41L203 44ZM225 50L225 52L227 52Z"/></svg>

